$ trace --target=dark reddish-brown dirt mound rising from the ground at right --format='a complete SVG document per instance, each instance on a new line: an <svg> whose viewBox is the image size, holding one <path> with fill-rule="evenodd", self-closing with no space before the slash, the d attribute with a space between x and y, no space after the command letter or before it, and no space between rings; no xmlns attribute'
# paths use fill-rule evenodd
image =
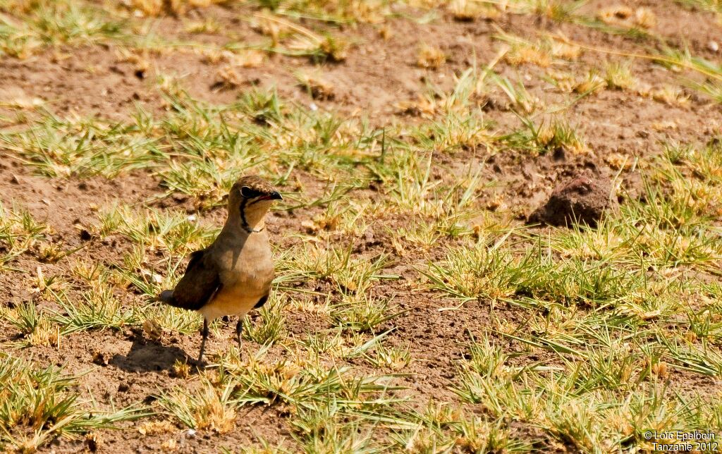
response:
<svg viewBox="0 0 722 454"><path fill-rule="evenodd" d="M601 176L582 175L557 185L549 200L529 216L529 222L570 226L573 222L596 227L611 202L612 182Z"/></svg>

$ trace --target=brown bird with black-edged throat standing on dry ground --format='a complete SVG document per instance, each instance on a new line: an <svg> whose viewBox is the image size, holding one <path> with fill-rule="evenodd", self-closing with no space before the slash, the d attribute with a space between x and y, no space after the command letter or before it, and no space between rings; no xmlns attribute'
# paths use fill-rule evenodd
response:
<svg viewBox="0 0 722 454"><path fill-rule="evenodd" d="M228 193L226 222L211 245L190 254L186 272L175 288L163 290L157 300L203 315L201 350L208 325L219 317L238 316L236 340L241 346L243 318L269 299L274 261L266 231L266 213L281 193L256 175L239 178Z"/></svg>

